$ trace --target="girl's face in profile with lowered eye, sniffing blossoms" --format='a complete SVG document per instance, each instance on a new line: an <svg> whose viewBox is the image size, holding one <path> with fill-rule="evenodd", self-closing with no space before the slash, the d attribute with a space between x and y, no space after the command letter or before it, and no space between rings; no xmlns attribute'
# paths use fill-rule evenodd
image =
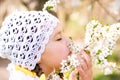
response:
<svg viewBox="0 0 120 80"><path fill-rule="evenodd" d="M71 53L69 43L70 40L63 36L63 29L58 24L41 56L41 67L47 68L47 71L59 68L61 61Z"/></svg>

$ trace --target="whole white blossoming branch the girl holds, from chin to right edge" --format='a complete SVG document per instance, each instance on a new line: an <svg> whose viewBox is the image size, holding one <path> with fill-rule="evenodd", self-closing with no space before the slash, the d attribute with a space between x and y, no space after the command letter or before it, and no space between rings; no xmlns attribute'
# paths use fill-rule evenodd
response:
<svg viewBox="0 0 120 80"><path fill-rule="evenodd" d="M90 53L93 65L98 65L99 68L104 71L104 74L111 74L117 66L113 62L109 62L107 57L112 55L119 37L120 23L111 26L103 26L99 21L92 20L86 26L85 42L83 46L72 41L69 48L73 54L68 56L67 60L62 61L62 66L59 70L54 71L50 75L57 76L56 80L68 80L70 73L75 70L76 66L80 65L76 53L79 53L81 49ZM62 78L59 74L62 74ZM55 78L51 78L50 80L55 80Z"/></svg>

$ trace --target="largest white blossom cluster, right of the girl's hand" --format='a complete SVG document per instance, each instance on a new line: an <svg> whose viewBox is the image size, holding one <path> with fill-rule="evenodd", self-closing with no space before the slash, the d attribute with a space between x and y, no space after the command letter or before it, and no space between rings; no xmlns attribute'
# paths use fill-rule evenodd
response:
<svg viewBox="0 0 120 80"><path fill-rule="evenodd" d="M85 49L90 51L93 63L98 65L104 74L110 74L116 68L116 64L108 62L107 57L112 55L119 37L120 23L109 26L92 20L86 26Z"/></svg>

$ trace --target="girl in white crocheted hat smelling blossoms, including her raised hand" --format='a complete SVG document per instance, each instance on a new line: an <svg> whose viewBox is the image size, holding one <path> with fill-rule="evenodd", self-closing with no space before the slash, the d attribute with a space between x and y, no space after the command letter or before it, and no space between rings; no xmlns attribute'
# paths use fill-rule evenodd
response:
<svg viewBox="0 0 120 80"><path fill-rule="evenodd" d="M0 56L11 61L9 80L38 80L60 68L71 52L60 21L46 11L23 11L8 16L0 30ZM80 80L92 80L91 57L78 54ZM76 71L70 80L76 79Z"/></svg>

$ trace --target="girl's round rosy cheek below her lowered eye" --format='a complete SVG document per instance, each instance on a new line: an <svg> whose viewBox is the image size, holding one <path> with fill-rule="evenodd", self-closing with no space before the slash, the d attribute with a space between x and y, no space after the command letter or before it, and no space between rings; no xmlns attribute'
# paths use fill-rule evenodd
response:
<svg viewBox="0 0 120 80"><path fill-rule="evenodd" d="M46 62L49 62L48 65L58 68L63 59L66 59L68 56L69 50L66 46L60 44L56 46L46 47L46 51L43 55L46 55L44 58Z"/></svg>

